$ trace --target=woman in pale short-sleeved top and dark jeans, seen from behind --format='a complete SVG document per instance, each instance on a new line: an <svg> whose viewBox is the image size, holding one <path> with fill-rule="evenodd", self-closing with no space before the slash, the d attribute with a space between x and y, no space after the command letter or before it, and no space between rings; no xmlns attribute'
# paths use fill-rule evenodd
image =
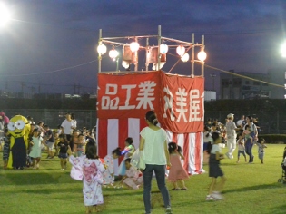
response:
<svg viewBox="0 0 286 214"><path fill-rule="evenodd" d="M156 175L157 185L163 196L166 213L172 213L169 191L165 184L166 165L171 167L167 145L166 131L156 126L158 120L155 112L149 111L145 115L147 127L140 132L141 139L139 150L143 152L143 160L146 164L143 170L143 201L145 213L151 213L151 183L153 171Z"/></svg>

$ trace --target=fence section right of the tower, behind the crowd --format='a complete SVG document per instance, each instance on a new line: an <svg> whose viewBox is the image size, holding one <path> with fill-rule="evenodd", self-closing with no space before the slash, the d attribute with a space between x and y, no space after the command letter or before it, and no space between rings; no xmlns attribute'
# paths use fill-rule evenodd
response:
<svg viewBox="0 0 286 214"><path fill-rule="evenodd" d="M234 122L241 119L242 115L258 118L261 134L286 134L286 112L204 112L205 121L208 118L225 121L226 115L234 114Z"/></svg>

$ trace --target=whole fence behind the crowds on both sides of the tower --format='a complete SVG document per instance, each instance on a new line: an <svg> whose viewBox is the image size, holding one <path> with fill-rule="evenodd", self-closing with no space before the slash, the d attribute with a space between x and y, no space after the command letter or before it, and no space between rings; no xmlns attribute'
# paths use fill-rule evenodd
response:
<svg viewBox="0 0 286 214"><path fill-rule="evenodd" d="M23 116L32 116L35 122L43 121L52 128L56 128L62 124L65 117L65 112L72 112L77 121L77 127L93 128L96 125L96 111L95 110L51 110L51 109L9 109L3 110L5 114L11 118L15 112L19 112ZM208 118L218 119L224 123L226 115L230 112L204 112L205 121ZM234 121L241 119L242 115L251 115L258 118L261 126L261 134L286 134L286 112L231 112L234 114Z"/></svg>

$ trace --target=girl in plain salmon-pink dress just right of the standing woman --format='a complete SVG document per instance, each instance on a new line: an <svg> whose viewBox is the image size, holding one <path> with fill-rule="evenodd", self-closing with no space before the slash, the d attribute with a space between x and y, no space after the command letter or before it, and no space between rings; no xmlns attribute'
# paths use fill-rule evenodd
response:
<svg viewBox="0 0 286 214"><path fill-rule="evenodd" d="M170 153L170 162L172 164L172 168L169 170L168 180L173 183L172 190L187 190L183 180L189 179L189 175L182 167L181 155L178 152L177 143L170 142L168 144L168 150ZM178 186L178 182L181 189Z"/></svg>

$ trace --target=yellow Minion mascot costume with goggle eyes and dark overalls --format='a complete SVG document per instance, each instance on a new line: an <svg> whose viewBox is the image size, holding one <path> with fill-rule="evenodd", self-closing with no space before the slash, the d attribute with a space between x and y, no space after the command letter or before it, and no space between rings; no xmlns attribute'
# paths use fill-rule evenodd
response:
<svg viewBox="0 0 286 214"><path fill-rule="evenodd" d="M7 168L23 169L26 166L26 153L30 123L22 115L15 115L8 123L10 138L10 154Z"/></svg>

